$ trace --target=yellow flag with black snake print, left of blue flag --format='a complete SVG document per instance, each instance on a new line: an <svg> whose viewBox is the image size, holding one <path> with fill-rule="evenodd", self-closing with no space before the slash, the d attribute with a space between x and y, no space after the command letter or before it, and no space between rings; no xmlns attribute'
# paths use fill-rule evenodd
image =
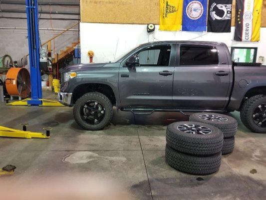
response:
<svg viewBox="0 0 266 200"><path fill-rule="evenodd" d="M180 30L183 0L160 0L160 30Z"/></svg>

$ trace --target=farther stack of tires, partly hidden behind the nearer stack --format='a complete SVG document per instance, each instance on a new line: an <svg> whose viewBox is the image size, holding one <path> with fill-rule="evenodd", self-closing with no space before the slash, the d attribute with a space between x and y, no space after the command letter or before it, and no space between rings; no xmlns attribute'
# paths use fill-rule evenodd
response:
<svg viewBox="0 0 266 200"><path fill-rule="evenodd" d="M224 134L222 154L231 153L235 146L235 134L238 130L238 121L225 114L199 112L190 115L190 121L198 121L218 127Z"/></svg>

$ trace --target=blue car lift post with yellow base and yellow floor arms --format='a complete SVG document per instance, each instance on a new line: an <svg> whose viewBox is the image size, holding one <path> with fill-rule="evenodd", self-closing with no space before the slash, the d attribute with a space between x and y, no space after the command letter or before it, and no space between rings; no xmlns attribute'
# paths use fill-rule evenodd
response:
<svg viewBox="0 0 266 200"><path fill-rule="evenodd" d="M63 106L58 101L42 99L41 76L40 76L40 39L38 21L38 0L26 0L27 27L28 27L28 50L31 82L31 98L7 103L9 105L40 105L40 106ZM20 137L20 138L49 138L51 127L44 128L46 134L41 132L30 132L26 130L27 124L23 125L23 130L12 129L0 126L0 136ZM10 171L11 173L12 171ZM0 174L6 170L0 169Z"/></svg>

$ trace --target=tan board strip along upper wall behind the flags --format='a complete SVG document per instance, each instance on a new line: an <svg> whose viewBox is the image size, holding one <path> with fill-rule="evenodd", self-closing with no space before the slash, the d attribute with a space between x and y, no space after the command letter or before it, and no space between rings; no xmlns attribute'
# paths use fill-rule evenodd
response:
<svg viewBox="0 0 266 200"><path fill-rule="evenodd" d="M159 24L160 0L80 0L81 21L101 23ZM233 0L232 26L235 25ZM266 27L266 0L263 0L262 27Z"/></svg>

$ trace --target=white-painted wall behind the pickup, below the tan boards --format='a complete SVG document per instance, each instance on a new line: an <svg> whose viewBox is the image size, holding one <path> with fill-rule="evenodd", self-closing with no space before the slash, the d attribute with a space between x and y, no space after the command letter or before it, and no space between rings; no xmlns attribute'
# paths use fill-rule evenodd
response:
<svg viewBox="0 0 266 200"><path fill-rule="evenodd" d="M80 23L81 62L88 63L87 52L94 51L94 62L107 62L138 44L157 40L200 40L225 42L231 46L258 47L259 56L266 58L266 27L261 28L260 42L237 42L233 40L235 27L230 33L160 31L159 26L153 33L147 33L147 25L141 24L111 24L111 23ZM266 61L264 61L266 64Z"/></svg>

